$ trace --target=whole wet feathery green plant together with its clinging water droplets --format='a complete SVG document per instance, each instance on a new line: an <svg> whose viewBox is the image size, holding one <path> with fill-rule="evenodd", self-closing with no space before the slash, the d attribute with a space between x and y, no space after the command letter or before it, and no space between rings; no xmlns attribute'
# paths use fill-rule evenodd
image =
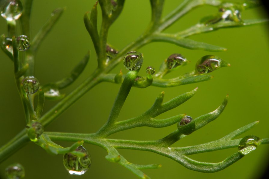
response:
<svg viewBox="0 0 269 179"><path fill-rule="evenodd" d="M194 34L215 31L220 28L243 27L268 22L267 19L248 20L241 17L240 12L258 6L257 1L247 0L242 3L230 3L222 0L185 0L175 10L163 17L164 0L150 0L151 21L148 28L134 42L119 50L109 44L107 38L109 27L120 16L124 8L124 0L97 1L96 4L93 4L90 12L85 13L84 24L93 41L98 66L84 82L67 95L62 94L61 90L71 85L80 76L89 61L90 53L88 52L84 56L66 78L48 84L39 82L34 74L37 50L42 40L63 14L64 9L58 8L53 11L40 31L34 38L30 39L29 19L32 3L32 0L25 0L24 3L21 3L20 0L8 0L1 8L1 15L7 20L8 34L2 34L0 46L2 51L14 63L14 76L24 107L26 128L0 148L0 162L10 157L26 143L34 142L49 154L63 154L63 165L70 174L83 175L91 165L94 165L94 162L91 161L90 149L88 151L83 147L83 143L88 143L105 149L108 153L105 158L108 161L120 164L139 178L149 178L148 175L142 172L142 169L157 169L160 168L160 164L140 165L130 163L117 149L153 152L175 160L188 169L211 173L225 169L246 154L254 151L259 145L269 143L269 139L256 136L234 139L250 130L259 122L254 121L239 129L234 129L234 132L216 141L188 147L172 147L171 145L175 142L188 137L191 133L218 118L228 103L227 95L216 110L197 118L192 118L185 114L165 119L156 118L193 97L198 88L181 94L165 103L163 102L164 92L161 92L152 106L145 110L144 113L136 114L137 116L133 118L118 121L121 109L131 88L147 88L149 86L165 88L204 82L212 79L211 73L214 73L215 70L230 66L230 63L225 59L221 59L216 55L206 55L197 61L196 67L192 71L174 78L165 78L168 73L188 65L188 60L190 59L179 53L167 54L167 59L164 59L160 64L160 68L155 70L151 66L142 66L143 61L147 59L139 52L140 47L151 42L160 41L173 43L187 49L209 51L210 54L226 51L223 47L197 42L188 37ZM173 25L186 13L191 12L197 6L203 5L216 7L216 12L183 31L174 34L164 32L165 29ZM97 25L98 6L102 10L102 23L100 27ZM18 32L16 26L19 21L21 23L21 31ZM129 71L126 74L123 74L120 70L118 74L110 73L118 64ZM142 71L140 72L141 69ZM107 121L96 133L81 134L46 131L46 127L51 122L56 120L69 106L101 82L116 83L119 85L119 91ZM59 100L59 102L48 112L42 114L46 100ZM110 138L112 134L135 127L163 128L171 125L175 126L174 131L164 134L163 138L157 140L134 141ZM64 148L55 143L56 141L74 143L70 147ZM188 157L193 154L227 148L238 148L238 151L219 163L202 162ZM19 178L23 178L24 169L18 165L7 168L7 177L11 175L18 177L16 176L18 175L17 173L22 173L21 171L23 171L23 174L19 176Z"/></svg>

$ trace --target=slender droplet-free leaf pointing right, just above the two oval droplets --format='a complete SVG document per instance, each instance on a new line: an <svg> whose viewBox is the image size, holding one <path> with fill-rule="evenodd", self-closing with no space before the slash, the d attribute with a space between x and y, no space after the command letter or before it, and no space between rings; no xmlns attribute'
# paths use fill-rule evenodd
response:
<svg viewBox="0 0 269 179"><path fill-rule="evenodd" d="M227 50L226 48L220 46L210 45L204 42L197 42L187 38L176 37L173 34L155 34L152 37L152 41L168 42L187 49L199 49L206 50L209 52L222 52Z"/></svg>

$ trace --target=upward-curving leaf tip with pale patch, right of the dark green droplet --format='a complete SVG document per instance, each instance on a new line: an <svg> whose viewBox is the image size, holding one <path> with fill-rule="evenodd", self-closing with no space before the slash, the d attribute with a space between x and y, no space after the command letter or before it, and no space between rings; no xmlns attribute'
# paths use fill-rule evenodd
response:
<svg viewBox="0 0 269 179"><path fill-rule="evenodd" d="M197 118L194 119L195 121L195 130L200 129L201 127L205 126L206 124L208 124L211 121L214 121L216 118L219 117L219 115L223 112L223 110L225 109L227 103L228 103L228 94L225 97L225 99L223 100L222 104L215 110L212 112L209 112L205 115L201 115Z"/></svg>

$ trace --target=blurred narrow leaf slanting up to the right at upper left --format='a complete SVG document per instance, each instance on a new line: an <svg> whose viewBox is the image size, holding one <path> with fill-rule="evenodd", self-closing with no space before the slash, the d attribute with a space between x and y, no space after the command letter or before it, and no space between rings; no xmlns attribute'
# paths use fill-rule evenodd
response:
<svg viewBox="0 0 269 179"><path fill-rule="evenodd" d="M43 25L43 27L38 31L38 33L35 35L35 38L32 41L32 51L36 51L38 49L38 46L41 44L44 37L50 32L53 25L56 24L60 16L63 14L63 11L65 8L58 8L55 9L51 14L47 22Z"/></svg>

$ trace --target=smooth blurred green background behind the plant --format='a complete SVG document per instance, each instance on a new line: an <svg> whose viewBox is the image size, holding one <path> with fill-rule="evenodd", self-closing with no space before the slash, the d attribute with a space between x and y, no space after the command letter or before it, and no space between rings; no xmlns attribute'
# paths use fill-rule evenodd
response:
<svg viewBox="0 0 269 179"><path fill-rule="evenodd" d="M181 1L166 1L164 15L173 10ZM240 1L242 2L242 1ZM32 36L46 22L50 13L57 7L66 7L63 16L55 25L36 56L35 77L41 84L57 81L65 77L80 61L87 51L91 50L89 64L81 77L70 87L63 90L69 93L83 82L96 68L96 55L90 36L87 33L83 15L90 11L94 0L58 0L34 1L31 18ZM99 25L101 10L99 10ZM202 17L215 14L217 8L210 6L198 7L176 22L166 32L177 32L196 24ZM118 49L135 40L150 21L150 3L145 0L126 1L121 16L112 25L109 31L109 43ZM243 19L265 18L262 7L242 12ZM6 22L0 18L0 34L7 33ZM21 34L18 34L21 35ZM216 109L226 94L230 95L229 103L216 120L202 129L176 142L173 146L197 145L212 140L217 140L228 133L253 121L260 121L253 129L239 136L256 135L269 138L268 114L268 25L255 25L243 28L226 28L206 34L190 37L193 40L223 46L227 52L206 52L189 50L169 43L151 43L139 49L144 54L144 64L140 71L145 76L144 69L151 65L156 69L162 61L172 53L181 53L191 61L187 66L169 74L168 77L178 76L194 69L196 61L203 55L217 55L229 61L231 67L222 68L212 73L214 78L210 81L178 86L174 88L148 87L145 89L133 88L122 109L120 120L134 117L145 112L154 102L155 97L165 91L165 101L172 99L195 87L199 87L197 94L181 106L160 115L158 118L167 118L173 115L186 113L196 118ZM8 142L26 124L23 107L15 86L13 63L0 52L0 146ZM119 64L112 73L127 70ZM94 133L107 120L114 102L119 85L101 83L79 99L63 115L54 121L45 131ZM43 114L57 102L46 101ZM160 139L175 130L176 124L163 129L140 127L120 132L110 136L116 139L151 140ZM63 146L70 143L59 142ZM62 155L52 156L42 148L29 143L16 154L0 164L0 178L4 177L5 167L18 162L25 167L27 179L47 178L130 178L136 176L122 166L105 160L106 151L94 145L84 145L92 157L92 166L83 176L71 176L63 166ZM259 178L268 163L269 145L262 145L251 154L243 157L237 163L217 173L207 174L186 169L173 160L154 153L119 150L120 153L132 163L150 164L160 163L162 168L157 170L144 170L151 178ZM203 153L190 156L192 159L205 162L220 162L237 151L237 148Z"/></svg>

